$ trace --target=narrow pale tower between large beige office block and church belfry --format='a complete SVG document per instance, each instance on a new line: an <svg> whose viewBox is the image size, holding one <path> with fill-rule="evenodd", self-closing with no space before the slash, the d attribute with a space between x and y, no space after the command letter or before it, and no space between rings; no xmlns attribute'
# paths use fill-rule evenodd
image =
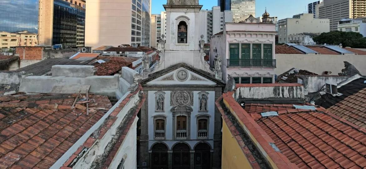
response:
<svg viewBox="0 0 366 169"><path fill-rule="evenodd" d="M150 45L158 48L158 41L161 39L161 15L151 15Z"/></svg>

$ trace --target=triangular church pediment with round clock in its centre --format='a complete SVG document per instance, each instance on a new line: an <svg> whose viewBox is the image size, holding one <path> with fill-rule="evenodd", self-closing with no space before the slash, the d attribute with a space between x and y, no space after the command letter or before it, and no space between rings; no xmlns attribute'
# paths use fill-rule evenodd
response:
<svg viewBox="0 0 366 169"><path fill-rule="evenodd" d="M199 84L199 85L225 85L207 72L196 70L186 64L178 64L165 70L149 75L149 78L142 80L142 84Z"/></svg>

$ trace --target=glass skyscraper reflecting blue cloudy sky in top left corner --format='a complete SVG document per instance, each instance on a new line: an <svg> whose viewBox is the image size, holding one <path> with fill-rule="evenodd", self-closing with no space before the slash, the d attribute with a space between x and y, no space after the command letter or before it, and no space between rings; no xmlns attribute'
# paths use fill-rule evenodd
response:
<svg viewBox="0 0 366 169"><path fill-rule="evenodd" d="M0 31L38 33L38 0L0 0Z"/></svg>

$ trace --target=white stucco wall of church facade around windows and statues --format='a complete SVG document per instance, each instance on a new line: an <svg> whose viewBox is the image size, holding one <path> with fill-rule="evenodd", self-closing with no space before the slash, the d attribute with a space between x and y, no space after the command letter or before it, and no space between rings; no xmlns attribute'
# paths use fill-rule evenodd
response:
<svg viewBox="0 0 366 169"><path fill-rule="evenodd" d="M173 145L176 142L179 142L181 140L172 140L173 139L173 116L172 116L172 112L170 111L170 109L172 108L172 106L170 106L170 94L171 91L163 91L165 92L165 99L164 99L164 110L165 112L156 112L155 111L155 93L157 91L149 91L148 92L148 110L149 110L149 124L155 124L154 123L154 116L157 115L161 115L161 116L165 116L167 121L166 121L166 125L165 125L165 140L155 140L154 139L154 127L153 125L151 127L149 127L149 145L151 148L151 145L157 141L162 141L164 143L167 143L168 145ZM211 146L213 146L213 133L214 133L214 108L215 108L215 91L206 91L208 92L208 101L207 101L207 106L208 106L208 112L198 112L199 110L199 99L198 99L198 93L201 91L193 91L193 106L191 106L193 108L193 112L191 112L191 121L190 121L190 140L193 141L186 141L186 140L182 140L187 142L188 144L191 145L191 147L193 148L193 146L195 145L195 143L198 143L200 140L197 140L197 117L196 115L198 114L208 114L209 117L209 126L208 126L208 140L212 140L212 142L210 143ZM187 119L188 120L188 119ZM206 141L208 141L206 140ZM193 146L192 146L193 145ZM170 149L171 147L169 147Z"/></svg>

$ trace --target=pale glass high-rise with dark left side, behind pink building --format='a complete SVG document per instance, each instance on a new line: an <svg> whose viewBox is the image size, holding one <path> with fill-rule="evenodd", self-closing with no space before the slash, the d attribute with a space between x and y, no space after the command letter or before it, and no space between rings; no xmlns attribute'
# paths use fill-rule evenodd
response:
<svg viewBox="0 0 366 169"><path fill-rule="evenodd" d="M228 10L233 13L233 21L240 22L249 17L255 16L255 0L218 0L220 10Z"/></svg>

